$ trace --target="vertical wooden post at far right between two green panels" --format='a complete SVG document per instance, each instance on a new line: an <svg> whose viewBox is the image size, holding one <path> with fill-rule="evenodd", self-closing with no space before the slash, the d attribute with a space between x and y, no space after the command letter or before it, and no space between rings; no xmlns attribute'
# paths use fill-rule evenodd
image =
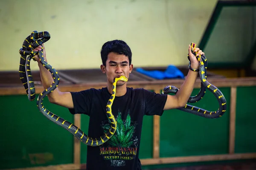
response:
<svg viewBox="0 0 256 170"><path fill-rule="evenodd" d="M230 129L229 129L229 153L235 153L236 136L236 87L230 91Z"/></svg>

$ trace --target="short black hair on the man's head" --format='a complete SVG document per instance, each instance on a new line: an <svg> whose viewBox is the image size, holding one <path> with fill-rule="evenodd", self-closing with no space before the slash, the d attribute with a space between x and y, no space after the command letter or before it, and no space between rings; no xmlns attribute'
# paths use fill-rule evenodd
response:
<svg viewBox="0 0 256 170"><path fill-rule="evenodd" d="M129 59L129 65L131 65L131 49L127 45L126 42L122 40L112 40L105 42L102 45L102 49L100 51L101 57L102 57L102 64L106 66L106 61L108 59L109 53L116 53L116 54L123 54L128 57Z"/></svg>

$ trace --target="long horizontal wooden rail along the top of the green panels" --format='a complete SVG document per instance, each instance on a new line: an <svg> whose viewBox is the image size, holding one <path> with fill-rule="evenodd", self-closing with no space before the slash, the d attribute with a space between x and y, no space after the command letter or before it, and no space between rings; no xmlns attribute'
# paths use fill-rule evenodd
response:
<svg viewBox="0 0 256 170"><path fill-rule="evenodd" d="M245 77L245 78L209 78L207 79L212 85L218 88L222 87L237 87L237 86L256 86L256 77ZM184 79L172 79L172 80L152 80L152 81L128 81L128 87L133 88L145 88L151 89L163 89L167 85L173 85L177 88L183 84ZM78 84L59 84L58 88L61 91L81 91L89 88L102 88L106 87L106 82L90 82L90 83L78 83ZM201 81L197 79L195 82L195 88L200 88ZM42 85L35 85L36 94L40 94L44 91ZM12 94L26 94L26 91L21 84L20 86L12 85L0 85L0 95L12 95Z"/></svg>

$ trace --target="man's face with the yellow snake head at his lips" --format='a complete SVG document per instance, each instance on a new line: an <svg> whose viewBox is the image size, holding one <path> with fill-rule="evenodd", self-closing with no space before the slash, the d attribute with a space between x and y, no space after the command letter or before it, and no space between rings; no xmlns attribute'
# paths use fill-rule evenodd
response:
<svg viewBox="0 0 256 170"><path fill-rule="evenodd" d="M133 65L129 65L129 59L123 54L115 54L113 52L108 54L106 67L101 65L103 73L106 73L108 82L111 84L116 77L125 76L129 78L129 74L133 69ZM124 85L126 82L119 80L116 86Z"/></svg>

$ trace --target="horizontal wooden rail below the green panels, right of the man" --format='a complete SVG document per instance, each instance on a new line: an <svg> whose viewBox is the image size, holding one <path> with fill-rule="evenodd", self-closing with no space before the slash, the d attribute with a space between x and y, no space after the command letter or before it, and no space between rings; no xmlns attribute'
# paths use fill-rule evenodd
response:
<svg viewBox="0 0 256 170"><path fill-rule="evenodd" d="M237 159L256 159L256 153L183 156L183 157L171 157L171 158L141 159L140 161L142 165L155 165L155 164L176 164L176 163L202 162L202 161L225 161L225 160L237 160Z"/></svg>

